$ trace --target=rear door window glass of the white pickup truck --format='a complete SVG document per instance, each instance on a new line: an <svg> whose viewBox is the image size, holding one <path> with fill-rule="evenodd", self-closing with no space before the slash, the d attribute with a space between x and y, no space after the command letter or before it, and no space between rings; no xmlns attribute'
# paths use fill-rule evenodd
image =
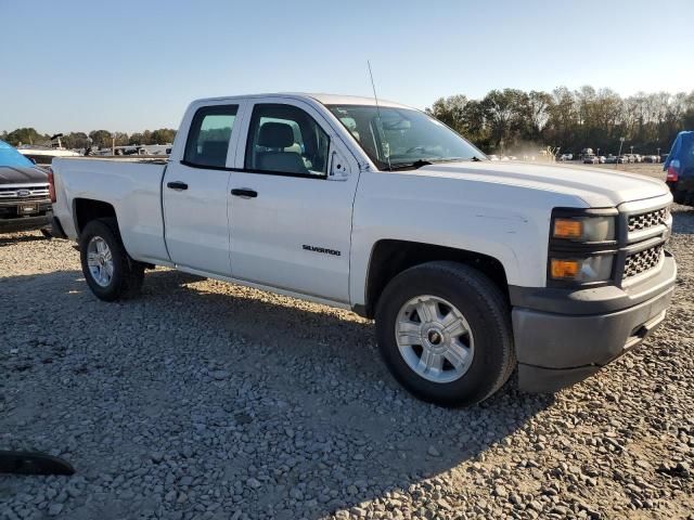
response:
<svg viewBox="0 0 694 520"><path fill-rule="evenodd" d="M185 162L224 167L237 110L239 105L206 106L198 109L191 122L185 143Z"/></svg>

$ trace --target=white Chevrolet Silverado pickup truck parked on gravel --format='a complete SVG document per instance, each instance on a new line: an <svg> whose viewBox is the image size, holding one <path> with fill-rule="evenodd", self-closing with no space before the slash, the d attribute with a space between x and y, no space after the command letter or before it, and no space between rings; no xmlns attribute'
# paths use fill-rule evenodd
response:
<svg viewBox="0 0 694 520"><path fill-rule="evenodd" d="M577 382L665 317L671 196L617 171L492 162L396 103L193 102L167 161L55 159L55 233L116 300L166 265L374 317L393 375L444 405L518 367Z"/></svg>

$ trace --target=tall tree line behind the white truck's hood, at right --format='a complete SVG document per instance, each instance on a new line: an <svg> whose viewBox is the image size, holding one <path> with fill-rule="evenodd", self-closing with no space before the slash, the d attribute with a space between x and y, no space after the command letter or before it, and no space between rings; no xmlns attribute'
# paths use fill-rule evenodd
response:
<svg viewBox="0 0 694 520"><path fill-rule="evenodd" d="M600 148L667 153L681 130L694 130L694 91L639 92L621 98L609 89L558 87L552 92L492 90L481 100L458 94L437 100L428 114L487 153L503 154L542 146L578 154Z"/></svg>

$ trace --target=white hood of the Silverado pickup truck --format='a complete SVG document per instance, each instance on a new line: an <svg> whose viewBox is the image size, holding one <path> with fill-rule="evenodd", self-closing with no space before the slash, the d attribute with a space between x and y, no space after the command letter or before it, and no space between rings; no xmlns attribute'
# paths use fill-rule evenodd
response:
<svg viewBox="0 0 694 520"><path fill-rule="evenodd" d="M589 207L613 207L669 193L657 179L615 169L576 168L541 162L445 162L422 167L417 176L460 178L570 194Z"/></svg>

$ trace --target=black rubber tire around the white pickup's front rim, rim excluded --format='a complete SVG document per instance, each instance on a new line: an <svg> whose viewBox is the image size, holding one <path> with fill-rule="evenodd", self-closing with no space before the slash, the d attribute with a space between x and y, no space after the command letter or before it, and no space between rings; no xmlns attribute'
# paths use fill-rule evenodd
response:
<svg viewBox="0 0 694 520"><path fill-rule="evenodd" d="M416 374L400 354L396 322L412 298L430 295L452 303L474 337L472 364L459 379L434 382ZM376 306L381 354L394 377L419 399L442 406L484 401L509 379L516 366L511 311L501 290L483 273L457 262L428 262L411 268L386 286Z"/></svg>

